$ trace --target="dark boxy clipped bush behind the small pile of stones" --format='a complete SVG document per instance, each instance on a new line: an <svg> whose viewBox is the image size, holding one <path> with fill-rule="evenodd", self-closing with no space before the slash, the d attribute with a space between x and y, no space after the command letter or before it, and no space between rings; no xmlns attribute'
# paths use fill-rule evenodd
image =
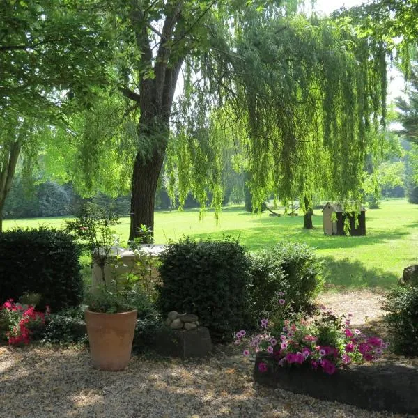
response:
<svg viewBox="0 0 418 418"><path fill-rule="evenodd" d="M185 238L168 245L161 260L157 304L163 314L198 315L214 341L230 339L245 323L249 260L238 241Z"/></svg>

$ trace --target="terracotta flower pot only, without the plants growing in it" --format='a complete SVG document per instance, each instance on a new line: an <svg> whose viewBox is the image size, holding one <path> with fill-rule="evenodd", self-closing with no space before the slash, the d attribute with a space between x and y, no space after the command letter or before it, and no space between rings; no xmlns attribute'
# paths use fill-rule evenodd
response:
<svg viewBox="0 0 418 418"><path fill-rule="evenodd" d="M93 367L116 371L129 363L137 310L121 314L99 314L86 309L86 327Z"/></svg>

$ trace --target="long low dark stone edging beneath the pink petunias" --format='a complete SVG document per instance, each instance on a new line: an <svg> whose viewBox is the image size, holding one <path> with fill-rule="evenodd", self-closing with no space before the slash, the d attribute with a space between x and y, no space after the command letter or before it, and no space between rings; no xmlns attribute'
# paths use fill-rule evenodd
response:
<svg viewBox="0 0 418 418"><path fill-rule="evenodd" d="M332 376L309 367L270 366L258 371L265 355L256 356L254 380L325 401L337 401L374 411L418 414L418 370L401 364L358 365ZM273 364L273 363L271 363Z"/></svg>

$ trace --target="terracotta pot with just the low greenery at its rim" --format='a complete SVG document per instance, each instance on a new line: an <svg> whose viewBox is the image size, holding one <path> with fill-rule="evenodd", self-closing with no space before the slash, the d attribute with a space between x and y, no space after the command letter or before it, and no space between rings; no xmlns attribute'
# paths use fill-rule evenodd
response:
<svg viewBox="0 0 418 418"><path fill-rule="evenodd" d="M123 370L130 361L135 325L136 292L90 293L85 311L93 367Z"/></svg>

